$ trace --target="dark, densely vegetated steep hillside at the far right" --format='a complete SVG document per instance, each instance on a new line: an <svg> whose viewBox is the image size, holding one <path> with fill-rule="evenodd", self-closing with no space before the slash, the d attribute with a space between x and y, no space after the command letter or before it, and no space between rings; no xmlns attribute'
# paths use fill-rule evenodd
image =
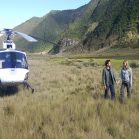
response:
<svg viewBox="0 0 139 139"><path fill-rule="evenodd" d="M97 26L83 40L84 48L136 46L139 43L139 1L109 0L103 7L100 12L99 3L92 13L92 24L97 22Z"/></svg>

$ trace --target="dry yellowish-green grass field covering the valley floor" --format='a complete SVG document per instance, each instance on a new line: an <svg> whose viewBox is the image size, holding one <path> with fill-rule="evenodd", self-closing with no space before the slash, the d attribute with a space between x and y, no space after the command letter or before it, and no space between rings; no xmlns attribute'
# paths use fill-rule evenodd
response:
<svg viewBox="0 0 139 139"><path fill-rule="evenodd" d="M123 59L112 58L118 77ZM0 98L0 139L139 139L139 69L133 68L132 98L103 98L105 59L30 55L29 82ZM137 62L138 59L129 60Z"/></svg>

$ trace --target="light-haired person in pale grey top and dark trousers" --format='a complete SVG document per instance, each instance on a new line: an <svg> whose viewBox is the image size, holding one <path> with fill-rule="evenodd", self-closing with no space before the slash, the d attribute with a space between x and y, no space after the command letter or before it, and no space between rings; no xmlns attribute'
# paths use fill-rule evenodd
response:
<svg viewBox="0 0 139 139"><path fill-rule="evenodd" d="M123 61L123 66L120 72L120 78L122 80L121 90L120 90L120 99L123 101L124 99L124 89L127 89L127 97L131 96L131 86L132 86L132 69L130 68L128 61Z"/></svg>

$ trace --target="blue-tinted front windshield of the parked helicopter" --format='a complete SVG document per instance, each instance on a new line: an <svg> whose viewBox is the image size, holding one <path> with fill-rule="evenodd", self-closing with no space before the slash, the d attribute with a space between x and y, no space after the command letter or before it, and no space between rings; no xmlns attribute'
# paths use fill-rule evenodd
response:
<svg viewBox="0 0 139 139"><path fill-rule="evenodd" d="M25 54L20 52L0 52L0 68L24 68L28 69Z"/></svg>

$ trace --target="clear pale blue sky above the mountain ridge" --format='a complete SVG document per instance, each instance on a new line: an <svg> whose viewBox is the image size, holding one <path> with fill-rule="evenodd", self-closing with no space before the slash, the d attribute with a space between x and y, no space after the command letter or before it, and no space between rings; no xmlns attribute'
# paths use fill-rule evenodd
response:
<svg viewBox="0 0 139 139"><path fill-rule="evenodd" d="M42 17L51 10L76 9L90 0L0 0L0 30L14 28L31 17Z"/></svg>

